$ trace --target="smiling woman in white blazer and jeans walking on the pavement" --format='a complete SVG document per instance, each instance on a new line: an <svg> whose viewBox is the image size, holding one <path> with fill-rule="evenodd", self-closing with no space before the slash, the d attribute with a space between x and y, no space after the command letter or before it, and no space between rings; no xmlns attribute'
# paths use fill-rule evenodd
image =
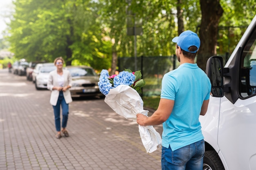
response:
<svg viewBox="0 0 256 170"><path fill-rule="evenodd" d="M47 89L51 90L50 103L53 106L54 117L55 117L55 127L56 127L56 138L60 139L62 137L61 132L65 137L69 134L66 130L67 119L69 108L68 104L72 102L71 94L69 88L71 87L71 75L68 70L63 70L64 60L62 57L58 57L54 60L54 65L56 70L53 70L49 74L49 79L47 83ZM60 108L61 107L61 108ZM62 130L61 130L61 118L60 112L62 109Z"/></svg>

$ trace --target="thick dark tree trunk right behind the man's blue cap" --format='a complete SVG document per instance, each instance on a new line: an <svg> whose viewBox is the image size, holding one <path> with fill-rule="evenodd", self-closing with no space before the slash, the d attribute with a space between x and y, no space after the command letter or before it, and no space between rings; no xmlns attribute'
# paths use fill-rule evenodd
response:
<svg viewBox="0 0 256 170"><path fill-rule="evenodd" d="M200 0L202 20L199 30L201 45L198 51L198 66L205 71L209 57L216 55L218 25L223 9L220 0Z"/></svg>

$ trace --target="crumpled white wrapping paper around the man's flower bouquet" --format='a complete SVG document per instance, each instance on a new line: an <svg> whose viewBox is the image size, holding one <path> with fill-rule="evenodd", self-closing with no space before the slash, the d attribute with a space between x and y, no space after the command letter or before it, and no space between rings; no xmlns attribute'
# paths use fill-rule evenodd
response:
<svg viewBox="0 0 256 170"><path fill-rule="evenodd" d="M143 100L137 91L128 85L110 89L104 101L124 118L136 118L137 113L148 115L148 111L143 109ZM154 152L157 146L162 144L162 138L153 126L139 125L139 134L147 153Z"/></svg>

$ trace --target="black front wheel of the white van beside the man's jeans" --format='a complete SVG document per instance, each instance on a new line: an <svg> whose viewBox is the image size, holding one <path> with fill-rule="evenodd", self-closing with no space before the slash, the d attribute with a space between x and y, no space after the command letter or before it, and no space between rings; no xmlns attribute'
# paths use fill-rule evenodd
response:
<svg viewBox="0 0 256 170"><path fill-rule="evenodd" d="M225 170L220 157L214 150L205 151L203 170Z"/></svg>

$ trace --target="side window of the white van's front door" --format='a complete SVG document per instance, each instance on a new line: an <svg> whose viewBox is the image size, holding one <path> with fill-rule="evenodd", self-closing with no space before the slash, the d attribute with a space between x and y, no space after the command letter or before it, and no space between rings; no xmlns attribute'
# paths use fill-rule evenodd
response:
<svg viewBox="0 0 256 170"><path fill-rule="evenodd" d="M239 93L245 98L256 90L256 31L250 37L242 52Z"/></svg>

